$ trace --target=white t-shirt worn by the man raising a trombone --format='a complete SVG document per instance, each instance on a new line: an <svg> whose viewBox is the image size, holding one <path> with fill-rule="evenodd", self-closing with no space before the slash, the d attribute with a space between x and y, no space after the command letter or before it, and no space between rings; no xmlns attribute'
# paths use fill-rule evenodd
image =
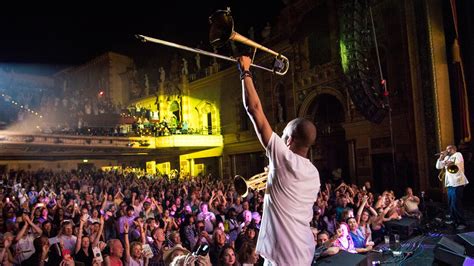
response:
<svg viewBox="0 0 474 266"><path fill-rule="evenodd" d="M309 223L319 192L319 172L272 134L266 154L269 173L257 253L272 265L311 265L314 239Z"/></svg>

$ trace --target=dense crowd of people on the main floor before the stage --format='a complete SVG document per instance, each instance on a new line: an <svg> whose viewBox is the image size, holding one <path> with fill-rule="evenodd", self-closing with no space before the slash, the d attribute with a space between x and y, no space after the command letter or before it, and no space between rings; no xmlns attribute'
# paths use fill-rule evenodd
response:
<svg viewBox="0 0 474 266"><path fill-rule="evenodd" d="M231 179L102 171L10 171L2 176L2 265L252 265L263 191L242 198ZM316 258L367 252L384 222L419 218L410 188L326 184L314 202ZM202 252L208 247L208 253ZM198 252L200 250L200 252ZM198 255L198 254L201 255Z"/></svg>

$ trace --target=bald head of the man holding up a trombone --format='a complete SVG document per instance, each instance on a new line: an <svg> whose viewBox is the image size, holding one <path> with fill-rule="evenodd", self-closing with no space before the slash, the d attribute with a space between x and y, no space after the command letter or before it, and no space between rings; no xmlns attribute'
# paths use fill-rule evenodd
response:
<svg viewBox="0 0 474 266"><path fill-rule="evenodd" d="M308 119L295 118L283 130L285 143L288 144L290 138L290 146L294 145L297 149L309 149L316 141L316 126Z"/></svg>

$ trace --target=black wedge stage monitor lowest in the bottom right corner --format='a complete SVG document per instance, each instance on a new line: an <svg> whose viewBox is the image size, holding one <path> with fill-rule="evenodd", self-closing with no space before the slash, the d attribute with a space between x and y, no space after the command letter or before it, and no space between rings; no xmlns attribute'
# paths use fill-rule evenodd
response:
<svg viewBox="0 0 474 266"><path fill-rule="evenodd" d="M444 236L436 244L434 255L435 259L449 265L463 265L467 258L462 245Z"/></svg>

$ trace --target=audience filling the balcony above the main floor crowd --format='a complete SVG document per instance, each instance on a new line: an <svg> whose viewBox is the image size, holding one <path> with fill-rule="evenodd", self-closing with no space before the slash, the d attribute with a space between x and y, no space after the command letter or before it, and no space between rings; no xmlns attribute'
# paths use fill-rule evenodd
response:
<svg viewBox="0 0 474 266"><path fill-rule="evenodd" d="M50 95L52 92L45 90L26 98L23 94L28 91L19 91L14 96L4 94L6 101L20 105L12 103L1 110L3 129L14 125L14 130L20 132L35 130L42 134L115 137L209 134L207 128L189 128L187 121L178 121L175 116L160 119L158 111L138 107L121 110L105 96L80 97L81 91L60 96Z"/></svg>

